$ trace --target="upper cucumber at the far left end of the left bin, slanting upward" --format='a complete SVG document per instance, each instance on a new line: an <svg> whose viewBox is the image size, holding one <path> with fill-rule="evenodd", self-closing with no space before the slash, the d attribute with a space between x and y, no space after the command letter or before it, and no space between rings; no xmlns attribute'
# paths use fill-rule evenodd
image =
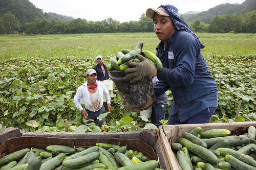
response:
<svg viewBox="0 0 256 170"><path fill-rule="evenodd" d="M6 155L2 159L0 159L0 166L24 157L29 151L30 151L30 149L25 148L25 149L13 152L9 155Z"/></svg>

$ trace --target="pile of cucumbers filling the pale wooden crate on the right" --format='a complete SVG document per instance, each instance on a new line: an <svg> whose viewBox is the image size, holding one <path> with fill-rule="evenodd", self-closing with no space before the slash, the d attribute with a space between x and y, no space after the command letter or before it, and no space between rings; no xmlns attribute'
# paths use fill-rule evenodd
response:
<svg viewBox="0 0 256 170"><path fill-rule="evenodd" d="M196 127L171 147L182 169L256 170L255 134L254 126L239 136L230 135L227 129Z"/></svg>

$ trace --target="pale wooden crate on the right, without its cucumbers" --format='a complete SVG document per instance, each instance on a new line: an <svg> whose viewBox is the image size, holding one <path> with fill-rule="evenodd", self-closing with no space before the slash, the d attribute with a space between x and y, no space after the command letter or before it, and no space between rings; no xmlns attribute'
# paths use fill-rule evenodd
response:
<svg viewBox="0 0 256 170"><path fill-rule="evenodd" d="M182 170L174 152L170 147L170 143L178 142L179 137L183 137L184 132L190 132L196 127L201 127L202 131L209 129L228 129L231 135L240 135L247 132L249 126L255 126L256 122L237 122L237 123L214 123L214 124L187 124L187 125L167 125L160 126L160 138L167 155L168 163L172 170Z"/></svg>

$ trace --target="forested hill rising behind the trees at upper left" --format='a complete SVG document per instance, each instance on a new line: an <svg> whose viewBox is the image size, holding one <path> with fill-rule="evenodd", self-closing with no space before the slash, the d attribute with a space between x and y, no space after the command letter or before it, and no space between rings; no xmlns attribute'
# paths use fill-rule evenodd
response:
<svg viewBox="0 0 256 170"><path fill-rule="evenodd" d="M0 0L0 15L6 14L10 11L17 17L24 27L26 22L34 21L36 18L67 21L74 19L73 17L58 15L56 13L42 12L41 9L36 8L29 0Z"/></svg>

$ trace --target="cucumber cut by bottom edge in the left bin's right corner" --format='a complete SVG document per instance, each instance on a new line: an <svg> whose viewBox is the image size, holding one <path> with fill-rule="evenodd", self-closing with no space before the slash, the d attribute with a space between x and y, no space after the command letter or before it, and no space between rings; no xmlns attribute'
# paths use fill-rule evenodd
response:
<svg viewBox="0 0 256 170"><path fill-rule="evenodd" d="M118 168L118 170L154 170L157 166L158 162L156 160L149 160L139 164L133 164L131 166L123 166Z"/></svg>

